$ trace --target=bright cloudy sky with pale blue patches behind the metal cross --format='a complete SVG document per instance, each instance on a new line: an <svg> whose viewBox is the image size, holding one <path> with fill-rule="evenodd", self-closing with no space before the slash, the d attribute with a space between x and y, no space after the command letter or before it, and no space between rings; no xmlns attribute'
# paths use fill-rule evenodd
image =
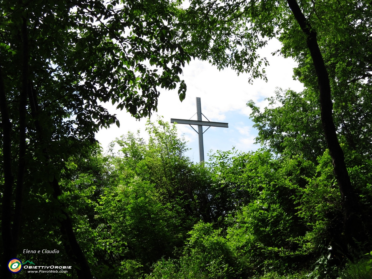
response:
<svg viewBox="0 0 372 279"><path fill-rule="evenodd" d="M251 109L246 106L253 100L261 109L267 106L267 97L275 95L277 88L302 91L302 84L293 79L293 68L296 62L291 58L272 56L272 52L280 49L280 42L270 40L268 45L261 49L261 57L266 57L270 65L265 67L268 81L257 79L253 84L248 83L248 74L237 75L230 68L219 71L207 61L192 60L183 68L183 77L187 85L186 98L180 102L176 90L160 90L158 99L158 112L153 113L151 121L162 117L170 122L171 118L189 119L196 113L196 97L201 98L202 113L209 121L228 122L229 128L211 127L203 134L204 156L208 161L208 154L216 150L228 151L235 147L239 151L249 152L260 148L254 144L257 130L249 119ZM110 103L103 104L110 113L115 113L120 121L120 128L116 125L109 129L103 128L96 134L103 150L115 138L127 134L128 131L141 131L143 138L148 138L145 132L147 119L136 121L125 110L116 109ZM196 115L192 119L196 120ZM206 120L203 118L203 120ZM195 126L197 130L197 126ZM203 127L203 131L208 127ZM177 124L180 137L187 141L186 155L193 161L199 162L198 134L189 126Z"/></svg>

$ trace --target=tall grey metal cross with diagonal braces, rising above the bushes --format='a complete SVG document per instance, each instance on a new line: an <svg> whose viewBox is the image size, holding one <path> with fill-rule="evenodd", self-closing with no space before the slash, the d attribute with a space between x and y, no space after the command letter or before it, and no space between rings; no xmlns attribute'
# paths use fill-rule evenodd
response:
<svg viewBox="0 0 372 279"><path fill-rule="evenodd" d="M194 114L195 115L195 114ZM198 131L194 129L195 132L199 135L199 158L200 161L204 161L204 145L203 145L203 134L210 128L210 127L222 127L222 128L229 128L228 123L223 122L212 122L209 121L208 118L206 118L205 115L202 113L202 106L200 103L200 98L196 97L196 115L198 115L198 120L190 120L190 119L177 119L177 118L171 118L170 123L178 123L178 124L188 124L191 128L194 129L191 125L198 125ZM202 115L208 120L208 121L202 121ZM208 126L208 128L203 132L203 126Z"/></svg>

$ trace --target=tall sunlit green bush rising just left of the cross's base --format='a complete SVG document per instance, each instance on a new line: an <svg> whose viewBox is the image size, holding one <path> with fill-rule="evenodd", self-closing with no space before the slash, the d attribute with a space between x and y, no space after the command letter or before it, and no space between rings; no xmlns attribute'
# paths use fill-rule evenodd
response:
<svg viewBox="0 0 372 279"><path fill-rule="evenodd" d="M70 158L73 175L61 179L95 278L140 278L177 258L199 220L218 220L211 173L185 157L176 125L148 121L147 132L148 142L130 132L117 138L117 153Z"/></svg>

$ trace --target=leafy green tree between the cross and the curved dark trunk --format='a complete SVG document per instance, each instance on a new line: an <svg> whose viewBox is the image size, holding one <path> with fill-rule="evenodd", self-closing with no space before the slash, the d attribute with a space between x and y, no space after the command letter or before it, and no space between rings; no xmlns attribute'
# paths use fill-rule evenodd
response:
<svg viewBox="0 0 372 279"><path fill-rule="evenodd" d="M251 118L257 128L256 143L267 145L282 156L302 156L314 163L325 151L318 100L313 94L298 94L292 90L278 90L267 98L269 106L261 112L253 101ZM279 104L279 106L277 106Z"/></svg>

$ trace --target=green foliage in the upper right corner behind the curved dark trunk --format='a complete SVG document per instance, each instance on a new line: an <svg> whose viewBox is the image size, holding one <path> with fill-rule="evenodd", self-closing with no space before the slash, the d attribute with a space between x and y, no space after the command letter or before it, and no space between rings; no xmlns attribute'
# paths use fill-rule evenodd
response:
<svg viewBox="0 0 372 279"><path fill-rule="evenodd" d="M371 92L368 70L371 61L365 58L371 52L369 5L368 1L330 1L325 5L309 2L303 7L308 22L317 32L317 41L330 77L336 129L351 148L366 155L371 150L369 124L366 123L370 122L371 111L370 94L367 93ZM284 45L282 52L297 59L299 66L295 69L295 76L311 89L310 92L315 93L318 90L317 75L314 66L309 63L307 45L294 44L290 39L301 33L300 28L283 32L279 38Z"/></svg>

